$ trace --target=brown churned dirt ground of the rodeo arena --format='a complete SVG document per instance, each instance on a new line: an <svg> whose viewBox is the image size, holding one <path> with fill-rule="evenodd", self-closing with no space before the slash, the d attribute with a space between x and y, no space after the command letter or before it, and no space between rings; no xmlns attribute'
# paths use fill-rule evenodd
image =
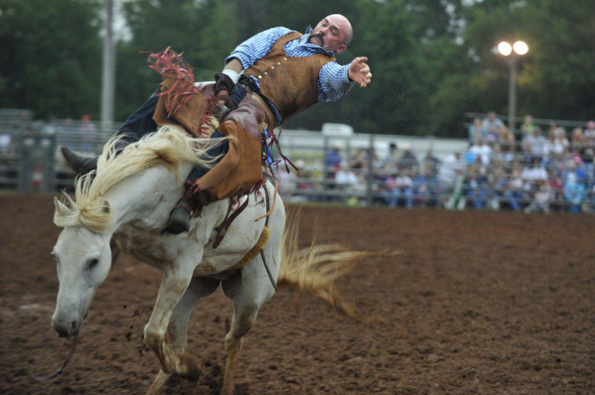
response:
<svg viewBox="0 0 595 395"><path fill-rule="evenodd" d="M0 210L0 392L144 392L158 372L141 336L160 273L120 257L66 372L35 382L69 350L50 326L59 229L50 196L0 196ZM237 394L595 392L595 217L304 207L304 245L314 223L320 243L402 252L339 282L386 321L358 324L283 287L246 336ZM166 393L218 393L230 314L221 289L197 305L190 351L204 375Z"/></svg>

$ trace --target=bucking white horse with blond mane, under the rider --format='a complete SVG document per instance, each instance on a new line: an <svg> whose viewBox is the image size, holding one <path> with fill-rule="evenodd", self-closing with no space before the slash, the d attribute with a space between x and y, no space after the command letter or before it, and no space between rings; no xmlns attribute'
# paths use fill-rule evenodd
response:
<svg viewBox="0 0 595 395"><path fill-rule="evenodd" d="M199 364L186 352L186 326L195 302L213 293L221 282L234 306L225 336L222 388L230 394L242 338L260 306L273 295L272 282L279 275L286 220L283 203L276 196L268 220L270 236L262 249L270 274L259 254L241 268L233 268L260 240L265 219L255 220L267 211L264 195L249 196L247 208L216 250L214 229L225 219L228 199L202 208L188 233L162 236L186 175L197 164L208 165L201 158L211 143L191 139L175 127L162 127L117 156L113 155L116 143L106 144L94 178L86 175L76 182L75 199L68 198L67 204L55 199L54 222L64 229L52 252L59 280L52 326L61 336L78 336L93 294L110 271L113 238L124 252L163 271L157 301L144 328L144 341L162 369L152 389L158 389L171 373L198 378ZM264 187L272 201L272 185L267 182Z"/></svg>

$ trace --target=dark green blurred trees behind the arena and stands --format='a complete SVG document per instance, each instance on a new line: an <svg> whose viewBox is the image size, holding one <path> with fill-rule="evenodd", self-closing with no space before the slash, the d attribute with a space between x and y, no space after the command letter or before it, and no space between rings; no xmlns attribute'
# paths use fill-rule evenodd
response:
<svg viewBox="0 0 595 395"><path fill-rule="evenodd" d="M116 0L118 1L118 0ZM102 0L0 2L0 107L38 119L99 116ZM351 124L358 133L464 136L465 111L507 113L508 66L493 52L522 39L517 114L595 117L592 0L134 0L122 4L131 39L116 43L116 120L155 89L140 50L183 51L197 80L211 80L244 39L286 26L304 31L331 13L354 29L345 64L369 57L374 78L285 127Z"/></svg>

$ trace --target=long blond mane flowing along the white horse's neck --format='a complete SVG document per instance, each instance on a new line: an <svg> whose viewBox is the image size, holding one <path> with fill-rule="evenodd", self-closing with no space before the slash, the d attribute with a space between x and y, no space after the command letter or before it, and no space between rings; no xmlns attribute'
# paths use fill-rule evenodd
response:
<svg viewBox="0 0 595 395"><path fill-rule="evenodd" d="M123 136L110 138L97 160L97 171L76 178L74 199L64 193L66 205L56 201L54 223L58 227L83 225L90 231L104 231L111 222L109 201L104 196L118 182L153 166L169 168L180 180L179 164L211 166L216 158L207 157L207 150L222 139L190 138L178 127L165 126L116 155L122 140Z"/></svg>

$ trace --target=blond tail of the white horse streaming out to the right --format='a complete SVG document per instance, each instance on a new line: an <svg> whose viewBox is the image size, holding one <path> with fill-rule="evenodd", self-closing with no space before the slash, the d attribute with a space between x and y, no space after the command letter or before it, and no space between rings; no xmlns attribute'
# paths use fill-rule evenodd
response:
<svg viewBox="0 0 595 395"><path fill-rule="evenodd" d="M341 313L357 322L377 324L382 319L378 315L362 317L356 313L355 302L344 299L335 285L335 280L349 273L356 261L361 259L396 254L388 252L352 251L340 244L316 244L316 237L309 247L298 246L299 213L283 234L281 268L277 284L298 287L300 292L309 292L322 299ZM295 301L299 308L299 299Z"/></svg>

